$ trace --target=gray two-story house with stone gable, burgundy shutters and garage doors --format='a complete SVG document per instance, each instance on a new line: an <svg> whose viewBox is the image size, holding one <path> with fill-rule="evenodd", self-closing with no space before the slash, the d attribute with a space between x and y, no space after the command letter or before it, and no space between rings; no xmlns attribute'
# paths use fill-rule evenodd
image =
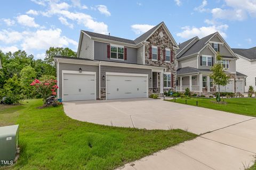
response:
<svg viewBox="0 0 256 170"><path fill-rule="evenodd" d="M58 98L147 98L175 90L176 50L178 45L164 22L135 40L81 30L77 58L54 58Z"/></svg>

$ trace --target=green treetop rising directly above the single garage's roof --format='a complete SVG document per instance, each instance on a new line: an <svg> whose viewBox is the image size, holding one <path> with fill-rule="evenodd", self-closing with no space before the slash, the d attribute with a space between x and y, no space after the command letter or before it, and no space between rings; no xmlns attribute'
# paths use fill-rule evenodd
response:
<svg viewBox="0 0 256 170"><path fill-rule="evenodd" d="M44 61L51 66L55 66L55 62L53 60L55 55L76 57L76 52L68 47L50 47L49 50L46 50Z"/></svg>

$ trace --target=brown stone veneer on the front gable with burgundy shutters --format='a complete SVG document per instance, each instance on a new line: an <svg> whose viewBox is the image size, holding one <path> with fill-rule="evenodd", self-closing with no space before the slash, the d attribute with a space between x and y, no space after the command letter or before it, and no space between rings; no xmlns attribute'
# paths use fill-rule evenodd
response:
<svg viewBox="0 0 256 170"><path fill-rule="evenodd" d="M159 33L161 33L161 31L164 34L162 38L159 36ZM155 31L155 33L151 37L147 39L147 42L149 42L149 44L145 45L145 65L165 67L166 72L171 72L174 76L172 90L175 90L176 88L175 53L173 52L173 62L171 63L165 62L163 58L163 50L165 50L165 48L170 48L171 50L173 50L173 44L171 42L171 39L167 36L164 28L161 26ZM154 45L160 48L160 58L161 58L160 60L152 61L151 59L149 59L149 47L151 45ZM169 89L166 89L166 91L168 90Z"/></svg>

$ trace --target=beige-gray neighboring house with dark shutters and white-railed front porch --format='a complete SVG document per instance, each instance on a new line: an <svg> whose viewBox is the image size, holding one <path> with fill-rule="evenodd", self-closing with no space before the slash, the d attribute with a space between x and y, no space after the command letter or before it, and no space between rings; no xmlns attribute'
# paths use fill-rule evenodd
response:
<svg viewBox="0 0 256 170"><path fill-rule="evenodd" d="M220 86L221 92L244 92L245 75L236 72L236 54L217 32L199 39L194 37L179 45L177 51L177 91L189 88L198 94L210 95L218 91L210 78L211 67L216 62L217 52L230 76L230 83Z"/></svg>

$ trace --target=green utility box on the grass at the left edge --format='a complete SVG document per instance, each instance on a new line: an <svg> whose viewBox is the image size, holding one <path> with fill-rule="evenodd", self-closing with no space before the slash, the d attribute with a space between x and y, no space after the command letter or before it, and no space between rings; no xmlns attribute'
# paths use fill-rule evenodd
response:
<svg viewBox="0 0 256 170"><path fill-rule="evenodd" d="M0 127L0 165L13 163L19 143L19 125Z"/></svg>

